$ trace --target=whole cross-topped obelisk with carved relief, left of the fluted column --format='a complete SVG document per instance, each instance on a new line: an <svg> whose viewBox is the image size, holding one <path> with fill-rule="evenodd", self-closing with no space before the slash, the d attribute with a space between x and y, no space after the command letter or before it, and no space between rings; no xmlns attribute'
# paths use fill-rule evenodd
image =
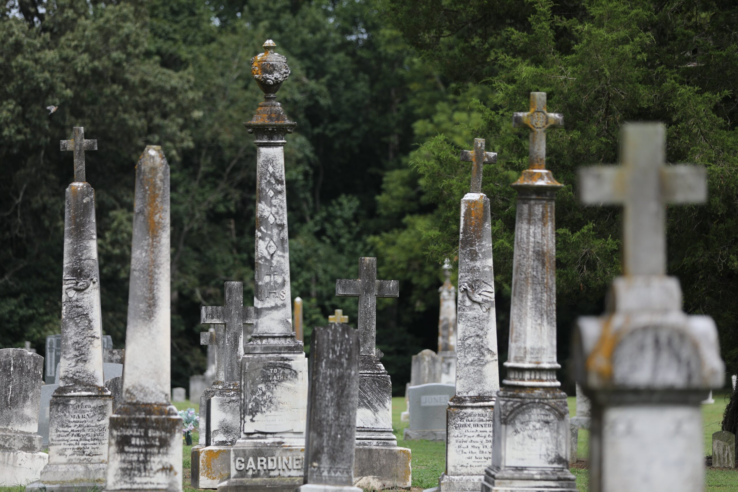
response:
<svg viewBox="0 0 738 492"><path fill-rule="evenodd" d="M456 341L456 395L446 410L446 471L441 491L479 491L492 459L492 415L500 388L492 271L489 198L482 193L483 164L497 162L484 140L461 152L472 162L472 185L461 199Z"/></svg>

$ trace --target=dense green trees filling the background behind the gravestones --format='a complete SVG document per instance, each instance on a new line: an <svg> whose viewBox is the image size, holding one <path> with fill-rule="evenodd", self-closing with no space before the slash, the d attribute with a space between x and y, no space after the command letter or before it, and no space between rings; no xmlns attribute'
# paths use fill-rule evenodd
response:
<svg viewBox="0 0 738 492"><path fill-rule="evenodd" d="M36 8L35 6L41 7ZM487 139L500 359L506 358L514 190L527 131L511 114L548 92L565 129L548 134L557 195L559 358L576 316L599 313L619 273L617 207L582 207L576 170L618 162L618 128L668 126L669 162L708 168L705 206L669 207L669 273L686 310L708 313L738 372L738 7L728 1L97 1L0 9L2 347L43 347L61 313L63 190L75 125L97 139L103 330L125 338L134 165L162 145L172 168L173 385L204 369L199 306L224 280L253 293L255 148L241 122L261 100L249 59L266 38L292 75L279 97L297 121L286 172L292 296L306 330L356 300L334 280L377 256L401 298L379 302L378 344L396 389L410 354L435 349L439 263L455 258L469 164ZM49 114L48 105L58 106ZM419 145L419 146L418 146ZM308 340L306 340L308 342ZM562 378L566 378L562 374Z"/></svg>

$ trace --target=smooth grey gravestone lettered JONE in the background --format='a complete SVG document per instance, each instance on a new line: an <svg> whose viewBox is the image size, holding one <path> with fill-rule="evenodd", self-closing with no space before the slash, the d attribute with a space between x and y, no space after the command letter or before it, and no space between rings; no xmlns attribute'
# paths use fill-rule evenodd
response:
<svg viewBox="0 0 738 492"><path fill-rule="evenodd" d="M405 440L446 440L446 409L456 392L455 384L421 384L411 386L410 427L404 429Z"/></svg>

